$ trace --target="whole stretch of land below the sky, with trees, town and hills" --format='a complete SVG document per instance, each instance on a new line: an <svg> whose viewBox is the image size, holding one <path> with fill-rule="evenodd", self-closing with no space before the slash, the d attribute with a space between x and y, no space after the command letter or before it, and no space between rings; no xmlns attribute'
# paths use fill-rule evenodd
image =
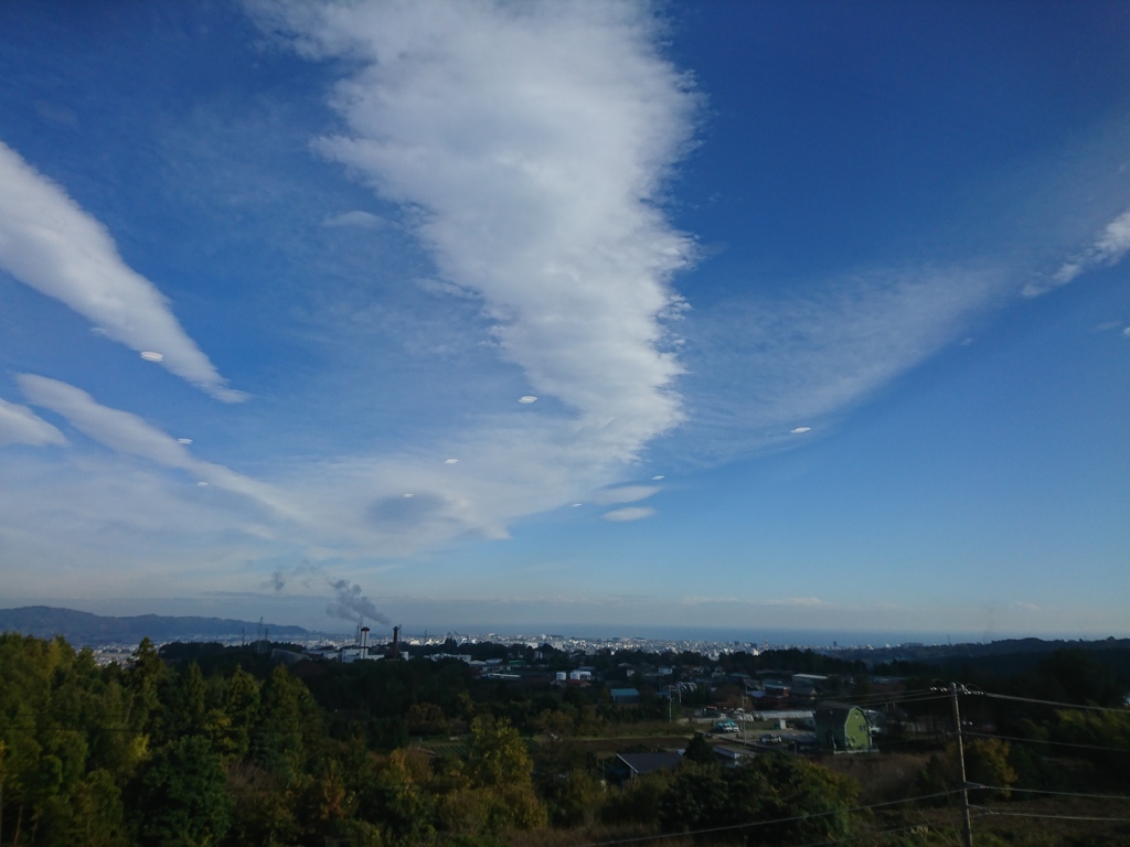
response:
<svg viewBox="0 0 1130 847"><path fill-rule="evenodd" d="M0 630L0 844L1125 842L1128 639Z"/></svg>

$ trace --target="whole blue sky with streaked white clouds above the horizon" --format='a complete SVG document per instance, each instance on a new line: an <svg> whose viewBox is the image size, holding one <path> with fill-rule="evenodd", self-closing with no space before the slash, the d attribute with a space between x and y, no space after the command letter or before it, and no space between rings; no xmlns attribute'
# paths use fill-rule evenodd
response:
<svg viewBox="0 0 1130 847"><path fill-rule="evenodd" d="M3 5L0 602L1130 635L1128 30Z"/></svg>

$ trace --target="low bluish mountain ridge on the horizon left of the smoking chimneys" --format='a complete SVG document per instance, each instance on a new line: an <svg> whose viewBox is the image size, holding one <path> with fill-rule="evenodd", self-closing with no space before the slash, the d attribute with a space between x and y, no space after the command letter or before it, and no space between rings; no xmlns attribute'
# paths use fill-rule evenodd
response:
<svg viewBox="0 0 1130 847"><path fill-rule="evenodd" d="M224 640L246 637L254 640L259 623L224 618L181 618L163 614L137 614L111 618L73 609L28 605L0 609L0 632L20 632L37 638L61 635L76 647L137 645L148 636L154 643ZM302 627L263 625L271 640L305 639L313 634Z"/></svg>

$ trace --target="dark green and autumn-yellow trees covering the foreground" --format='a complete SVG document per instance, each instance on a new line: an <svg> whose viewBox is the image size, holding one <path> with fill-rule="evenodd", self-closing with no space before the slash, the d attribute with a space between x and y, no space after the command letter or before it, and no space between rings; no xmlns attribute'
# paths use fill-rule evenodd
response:
<svg viewBox="0 0 1130 847"><path fill-rule="evenodd" d="M814 656L775 661L803 670L819 664ZM1088 661L1057 654L1009 690L1118 705L1124 681ZM977 739L971 778L1070 786L1081 759L1090 777L1127 786L1124 710L993 704L1002 707L972 709L973 719L1064 740L1075 758ZM919 710L928 707L946 704ZM866 819L849 814L861 785L818 761L766 753L725 768L694 736L678 768L620 785L580 743L666 717L654 698L624 707L599 686L478 680L458 660L288 666L270 652L158 652L144 640L128 665L99 666L61 638L9 632L0 636L0 845L488 847L676 833L689 835L662 844L698 833L695 842L797 845L866 835ZM947 743L933 742L906 792L954 787Z"/></svg>

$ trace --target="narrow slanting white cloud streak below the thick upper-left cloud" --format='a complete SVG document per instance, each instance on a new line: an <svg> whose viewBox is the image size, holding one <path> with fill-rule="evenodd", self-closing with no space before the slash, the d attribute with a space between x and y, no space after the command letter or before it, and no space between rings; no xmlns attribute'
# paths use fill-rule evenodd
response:
<svg viewBox="0 0 1130 847"><path fill-rule="evenodd" d="M73 385L34 374L17 377L28 402L63 416L84 435L118 453L175 468L234 494L251 497L281 514L293 509L269 486L223 465L194 459L188 447L141 418L97 403Z"/></svg>

